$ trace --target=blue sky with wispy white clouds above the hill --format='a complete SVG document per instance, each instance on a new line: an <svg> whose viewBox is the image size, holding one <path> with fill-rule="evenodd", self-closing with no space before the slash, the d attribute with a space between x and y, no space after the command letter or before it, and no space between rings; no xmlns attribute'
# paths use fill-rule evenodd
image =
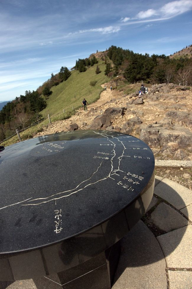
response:
<svg viewBox="0 0 192 289"><path fill-rule="evenodd" d="M0 101L111 45L149 55L192 44L192 0L1 0Z"/></svg>

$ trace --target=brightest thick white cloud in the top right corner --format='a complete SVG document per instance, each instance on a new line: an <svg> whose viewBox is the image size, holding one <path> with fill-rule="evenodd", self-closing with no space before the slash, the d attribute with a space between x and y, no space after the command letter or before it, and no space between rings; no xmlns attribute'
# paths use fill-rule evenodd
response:
<svg viewBox="0 0 192 289"><path fill-rule="evenodd" d="M192 0L178 0L165 4L160 12L163 16L176 16L192 9Z"/></svg>

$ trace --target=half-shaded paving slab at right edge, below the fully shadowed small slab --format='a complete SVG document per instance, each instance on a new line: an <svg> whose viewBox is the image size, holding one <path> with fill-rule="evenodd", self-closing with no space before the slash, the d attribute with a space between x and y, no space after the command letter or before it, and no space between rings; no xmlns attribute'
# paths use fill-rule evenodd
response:
<svg viewBox="0 0 192 289"><path fill-rule="evenodd" d="M192 225L158 236L167 267L192 268Z"/></svg>

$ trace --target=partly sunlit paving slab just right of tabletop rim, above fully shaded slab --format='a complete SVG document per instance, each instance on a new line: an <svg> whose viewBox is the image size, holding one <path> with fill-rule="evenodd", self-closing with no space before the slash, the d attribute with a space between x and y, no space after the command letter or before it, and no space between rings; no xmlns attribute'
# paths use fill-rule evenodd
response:
<svg viewBox="0 0 192 289"><path fill-rule="evenodd" d="M164 178L155 188L154 194L169 202L178 210L192 204L192 191Z"/></svg>

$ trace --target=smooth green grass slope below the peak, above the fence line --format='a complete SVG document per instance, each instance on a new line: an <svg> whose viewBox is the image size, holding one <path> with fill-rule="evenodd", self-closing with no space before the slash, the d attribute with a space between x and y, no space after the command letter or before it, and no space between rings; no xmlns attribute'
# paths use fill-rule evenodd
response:
<svg viewBox="0 0 192 289"><path fill-rule="evenodd" d="M82 104L83 98L88 103L94 102L99 98L102 90L101 84L108 82L109 78L104 75L104 61L98 63L101 73L95 74L97 65L90 66L85 72L77 70L71 71L71 76L59 85L52 87L52 94L47 100L47 107L41 111L43 117L48 114L56 116L62 113L71 111L72 106L78 108ZM91 81L97 81L95 86L91 86Z"/></svg>

